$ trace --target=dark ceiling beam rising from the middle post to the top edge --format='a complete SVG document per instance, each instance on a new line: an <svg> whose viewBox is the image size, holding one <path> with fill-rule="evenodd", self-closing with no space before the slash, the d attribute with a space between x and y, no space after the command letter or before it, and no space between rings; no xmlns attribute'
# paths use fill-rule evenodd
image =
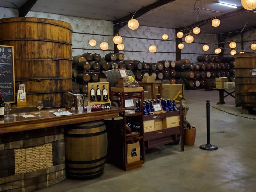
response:
<svg viewBox="0 0 256 192"><path fill-rule="evenodd" d="M172 1L175 0L157 0L155 3L139 9L137 12L130 13L129 15L126 15L120 19L113 21L113 24L115 24L114 28L116 28L116 30L119 31L120 28L124 27L126 23L128 23L128 21L132 18L133 15L133 18L137 19L138 17L144 15L152 9L171 3Z"/></svg>

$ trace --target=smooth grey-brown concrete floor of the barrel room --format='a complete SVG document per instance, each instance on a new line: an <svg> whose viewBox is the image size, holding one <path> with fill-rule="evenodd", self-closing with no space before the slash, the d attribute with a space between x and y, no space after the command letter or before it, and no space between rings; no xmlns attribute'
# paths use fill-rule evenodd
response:
<svg viewBox="0 0 256 192"><path fill-rule="evenodd" d="M199 149L206 143L206 100L211 105L238 115L235 99L225 98L225 105L216 105L217 91L186 90L190 107L187 120L196 127L194 146L165 145L146 151L142 168L125 172L111 164L104 174L89 181L65 181L39 190L40 192L107 192L107 191L195 191L195 192L255 192L256 191L256 126L255 120L245 119L211 108L211 144L216 151ZM227 131L227 133L217 133Z"/></svg>

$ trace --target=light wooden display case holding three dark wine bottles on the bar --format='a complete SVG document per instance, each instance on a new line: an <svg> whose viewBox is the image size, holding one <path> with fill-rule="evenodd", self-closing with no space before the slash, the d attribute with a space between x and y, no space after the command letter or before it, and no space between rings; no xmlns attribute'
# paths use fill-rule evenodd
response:
<svg viewBox="0 0 256 192"><path fill-rule="evenodd" d="M94 101L90 100L92 85L94 86L94 90L95 90L95 100ZM96 96L96 90L97 90L97 86L98 85L100 87L100 92L101 92L101 100L100 101L97 101L97 96ZM107 94L108 94L108 100L106 100L106 101L103 100L103 94L102 94L103 85L105 85L105 89L107 90ZM87 105L96 105L96 104L105 104L105 103L110 103L109 83L108 82L88 83L88 100L87 100Z"/></svg>

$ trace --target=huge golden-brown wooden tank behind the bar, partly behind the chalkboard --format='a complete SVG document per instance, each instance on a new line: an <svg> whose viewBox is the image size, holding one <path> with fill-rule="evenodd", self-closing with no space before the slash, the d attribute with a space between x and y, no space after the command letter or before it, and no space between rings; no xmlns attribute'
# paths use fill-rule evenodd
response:
<svg viewBox="0 0 256 192"><path fill-rule="evenodd" d="M0 19L0 44L14 46L15 88L25 84L27 102L63 105L72 90L71 25L43 18Z"/></svg>

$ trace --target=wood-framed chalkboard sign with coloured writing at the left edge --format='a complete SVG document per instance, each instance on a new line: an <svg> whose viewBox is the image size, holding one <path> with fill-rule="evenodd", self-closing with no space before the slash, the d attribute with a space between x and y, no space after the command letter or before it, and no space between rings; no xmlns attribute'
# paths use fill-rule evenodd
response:
<svg viewBox="0 0 256 192"><path fill-rule="evenodd" d="M13 46L0 45L0 93L4 103L15 102Z"/></svg>

